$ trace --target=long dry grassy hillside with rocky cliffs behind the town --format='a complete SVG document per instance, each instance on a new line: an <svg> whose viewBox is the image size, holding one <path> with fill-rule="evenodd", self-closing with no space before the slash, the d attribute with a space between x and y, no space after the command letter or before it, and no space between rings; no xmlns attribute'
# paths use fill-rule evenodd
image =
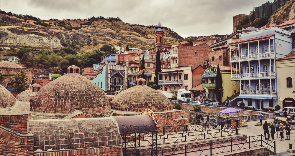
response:
<svg viewBox="0 0 295 156"><path fill-rule="evenodd" d="M86 45L80 49L83 53L99 49L103 44L121 47L128 44L130 48L152 48L155 44L154 28L129 25L121 20L50 19L39 21L38 25L34 22L37 20L1 14L1 25L4 26L0 26L0 33L4 36L4 47L26 45L34 49L60 49L77 41ZM183 39L170 29L165 29L164 33L167 43L177 44Z"/></svg>

